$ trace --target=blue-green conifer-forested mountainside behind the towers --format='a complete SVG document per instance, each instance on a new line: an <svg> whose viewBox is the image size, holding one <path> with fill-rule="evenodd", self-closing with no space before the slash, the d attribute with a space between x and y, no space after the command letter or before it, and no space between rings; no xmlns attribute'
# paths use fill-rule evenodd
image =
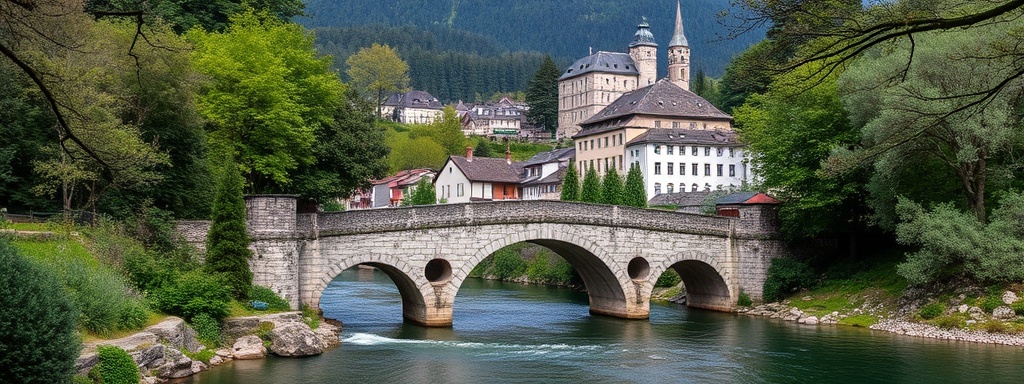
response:
<svg viewBox="0 0 1024 384"><path fill-rule="evenodd" d="M733 55L764 36L755 31L725 39L729 22L719 13L728 7L729 0L683 2L694 69L713 77L721 76ZM387 43L409 61L414 88L455 100L522 90L545 54L561 67L591 48L625 51L643 16L660 44L658 71L664 75L675 2L309 0L305 13L308 17L299 17L299 23L317 29L318 47L334 54L336 63L372 42Z"/></svg>

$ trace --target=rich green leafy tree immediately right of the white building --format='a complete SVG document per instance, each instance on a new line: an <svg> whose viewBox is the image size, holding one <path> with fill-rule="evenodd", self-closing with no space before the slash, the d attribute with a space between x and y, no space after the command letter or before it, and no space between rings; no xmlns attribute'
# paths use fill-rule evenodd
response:
<svg viewBox="0 0 1024 384"><path fill-rule="evenodd" d="M774 190L786 203L779 219L790 239L847 233L854 229L851 222L862 221L865 172L842 177L820 173L833 151L855 144L859 132L840 101L838 75L805 90L809 71L813 69L780 76L734 113L760 188Z"/></svg>

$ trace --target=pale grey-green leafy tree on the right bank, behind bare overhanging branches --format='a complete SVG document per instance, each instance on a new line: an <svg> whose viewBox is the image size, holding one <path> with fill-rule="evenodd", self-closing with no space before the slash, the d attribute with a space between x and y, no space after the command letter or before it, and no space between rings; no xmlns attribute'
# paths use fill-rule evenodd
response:
<svg viewBox="0 0 1024 384"><path fill-rule="evenodd" d="M993 168L1000 156L1024 143L1016 127L1019 118L1013 116L1019 91L998 92L975 105L950 96L987 92L1016 71L1016 60L999 56L998 50L1007 31L1015 29L1024 30L1024 23L916 34L912 60L909 42L866 52L842 78L844 102L854 123L863 125L863 145L838 152L828 170L841 172L880 156L898 160L877 165L895 167L902 167L902 159L937 159L959 179L967 206L985 222L986 186L1000 174ZM964 47L974 48L950 57ZM1013 82L1022 85L1024 80Z"/></svg>

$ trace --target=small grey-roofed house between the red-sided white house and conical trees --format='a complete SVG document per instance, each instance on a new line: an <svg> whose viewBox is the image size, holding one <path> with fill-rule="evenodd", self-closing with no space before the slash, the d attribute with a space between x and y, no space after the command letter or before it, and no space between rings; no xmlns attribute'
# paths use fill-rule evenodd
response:
<svg viewBox="0 0 1024 384"><path fill-rule="evenodd" d="M559 200L562 179L575 148L560 148L537 154L522 163L522 200Z"/></svg>

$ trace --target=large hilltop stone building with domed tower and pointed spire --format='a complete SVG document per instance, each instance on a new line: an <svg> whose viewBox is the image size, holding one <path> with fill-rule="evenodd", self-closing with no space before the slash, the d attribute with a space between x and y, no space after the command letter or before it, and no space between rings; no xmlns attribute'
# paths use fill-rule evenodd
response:
<svg viewBox="0 0 1024 384"><path fill-rule="evenodd" d="M690 47L683 34L682 9L676 3L676 31L669 43L669 80L689 89ZM657 43L644 19L629 52L598 51L569 66L558 78L556 138L572 137L587 121L627 92L657 80Z"/></svg>

